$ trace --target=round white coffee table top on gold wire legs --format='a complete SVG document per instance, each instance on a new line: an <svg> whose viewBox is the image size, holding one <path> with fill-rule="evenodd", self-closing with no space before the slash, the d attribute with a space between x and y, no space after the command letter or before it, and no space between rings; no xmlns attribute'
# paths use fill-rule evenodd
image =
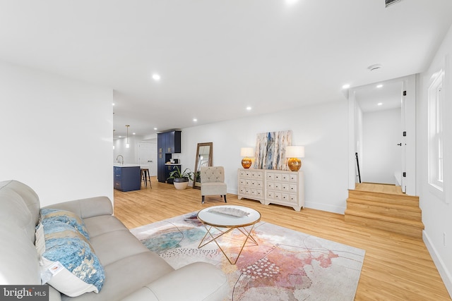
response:
<svg viewBox="0 0 452 301"><path fill-rule="evenodd" d="M231 208L231 209L239 209L249 213L247 216L232 216L229 214L221 214L217 212L210 211L211 209L221 209L221 208ZM218 226L218 227L244 227L253 225L261 220L261 214L259 211L254 209L244 207L244 206L235 206L235 205L222 205L222 206L213 206L202 209L198 212L198 219L206 223L210 226Z"/></svg>

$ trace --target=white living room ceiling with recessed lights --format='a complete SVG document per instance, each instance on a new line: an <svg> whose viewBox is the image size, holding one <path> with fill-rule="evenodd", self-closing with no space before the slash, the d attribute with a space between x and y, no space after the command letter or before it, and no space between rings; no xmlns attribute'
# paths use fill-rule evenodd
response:
<svg viewBox="0 0 452 301"><path fill-rule="evenodd" d="M115 135L148 135L422 72L452 1L384 2L0 0L0 59L114 89Z"/></svg>

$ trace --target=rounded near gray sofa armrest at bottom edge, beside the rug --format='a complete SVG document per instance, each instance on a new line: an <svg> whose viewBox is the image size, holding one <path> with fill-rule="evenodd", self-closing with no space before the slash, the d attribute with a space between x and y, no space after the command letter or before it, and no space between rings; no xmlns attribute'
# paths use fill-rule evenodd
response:
<svg viewBox="0 0 452 301"><path fill-rule="evenodd" d="M221 301L228 291L229 283L220 269L195 262L158 278L123 301Z"/></svg>

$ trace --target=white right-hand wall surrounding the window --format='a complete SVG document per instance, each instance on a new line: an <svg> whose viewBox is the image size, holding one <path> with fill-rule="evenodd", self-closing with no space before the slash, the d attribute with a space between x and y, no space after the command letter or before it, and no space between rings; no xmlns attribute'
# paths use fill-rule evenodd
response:
<svg viewBox="0 0 452 301"><path fill-rule="evenodd" d="M418 77L417 92L417 187L424 222L424 242L452 296L452 27L428 70ZM432 75L445 70L444 97L444 197L432 193L428 184L428 107L427 92ZM443 242L446 233L446 246Z"/></svg>

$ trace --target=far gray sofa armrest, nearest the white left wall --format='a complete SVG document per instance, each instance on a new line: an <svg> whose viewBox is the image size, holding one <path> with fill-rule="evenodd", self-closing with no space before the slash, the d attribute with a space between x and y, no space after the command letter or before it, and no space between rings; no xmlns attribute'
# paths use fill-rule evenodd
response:
<svg viewBox="0 0 452 301"><path fill-rule="evenodd" d="M108 197L90 197L52 204L44 208L62 209L78 214L82 219L100 215L112 215L113 205Z"/></svg>

